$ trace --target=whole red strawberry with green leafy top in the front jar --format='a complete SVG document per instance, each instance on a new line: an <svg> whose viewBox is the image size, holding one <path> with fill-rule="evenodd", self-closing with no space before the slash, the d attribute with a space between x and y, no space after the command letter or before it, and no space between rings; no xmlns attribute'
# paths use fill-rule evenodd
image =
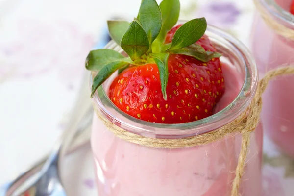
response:
<svg viewBox="0 0 294 196"><path fill-rule="evenodd" d="M225 88L221 54L204 35L204 18L172 27L178 12L179 2L163 0L159 7L155 0L143 0L131 24L109 21L110 36L128 57L111 49L89 53L86 68L98 71L91 96L119 70L109 98L130 116L154 123L186 123L212 115Z"/></svg>

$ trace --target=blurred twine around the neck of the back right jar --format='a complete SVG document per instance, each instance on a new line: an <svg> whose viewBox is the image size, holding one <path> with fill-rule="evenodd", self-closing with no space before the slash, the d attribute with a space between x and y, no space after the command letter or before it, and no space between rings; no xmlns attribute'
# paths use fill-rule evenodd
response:
<svg viewBox="0 0 294 196"><path fill-rule="evenodd" d="M285 25L282 25L278 21L274 20L267 10L262 6L260 0L253 0L256 9L260 13L261 17L263 18L264 22L273 29L277 34L290 39L294 40L294 29L288 28Z"/></svg>

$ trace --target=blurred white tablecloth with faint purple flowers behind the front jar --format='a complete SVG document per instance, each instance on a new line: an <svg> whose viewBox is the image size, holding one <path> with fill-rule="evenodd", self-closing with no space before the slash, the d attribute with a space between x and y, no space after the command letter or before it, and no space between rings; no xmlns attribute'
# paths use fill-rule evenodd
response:
<svg viewBox="0 0 294 196"><path fill-rule="evenodd" d="M53 147L77 95L89 50L109 41L106 20L131 20L137 16L140 3L0 0L0 184ZM181 0L180 19L204 16L209 24L228 31L245 45L253 15L251 0ZM90 156L89 150L84 155L87 153ZM91 192L94 183L91 169L87 170L89 176L81 174L79 182ZM266 170L265 175L276 172ZM268 183L281 178L278 174L269 176L265 176Z"/></svg>

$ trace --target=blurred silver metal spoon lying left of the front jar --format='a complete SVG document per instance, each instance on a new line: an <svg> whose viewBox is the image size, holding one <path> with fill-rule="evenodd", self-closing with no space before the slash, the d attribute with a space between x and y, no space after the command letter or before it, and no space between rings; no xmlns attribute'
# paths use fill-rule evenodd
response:
<svg viewBox="0 0 294 196"><path fill-rule="evenodd" d="M76 127L85 116L93 115L93 111L89 112L91 101L88 81L89 73L85 73L67 128L56 142L49 158L9 183L4 190L4 196L66 196L60 182L58 162L70 146L77 131Z"/></svg>

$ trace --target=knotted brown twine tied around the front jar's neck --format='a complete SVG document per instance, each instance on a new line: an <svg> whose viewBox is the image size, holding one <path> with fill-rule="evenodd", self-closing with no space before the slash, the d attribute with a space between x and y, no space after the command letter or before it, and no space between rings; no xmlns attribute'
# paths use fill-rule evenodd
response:
<svg viewBox="0 0 294 196"><path fill-rule="evenodd" d="M119 126L113 124L106 119L94 106L95 112L99 119L104 123L106 128L111 131L115 136L121 138L127 142L138 144L145 147L151 148L183 148L183 147L194 147L199 145L205 145L208 143L215 142L224 138L224 136L230 133L241 133L242 143L241 151L238 158L238 165L235 171L235 179L232 184L231 196L238 196L239 187L241 184L241 178L245 172L245 160L247 157L250 133L253 132L259 123L259 115L262 108L262 94L266 90L269 81L277 76L294 74L294 64L288 66L281 66L275 70L272 70L264 76L263 79L258 83L256 94L251 101L248 108L243 114L237 117L231 123L224 125L223 127L214 131L196 135L188 138L180 139L159 139L159 138L148 138L145 136L137 135L126 130L123 130Z"/></svg>

